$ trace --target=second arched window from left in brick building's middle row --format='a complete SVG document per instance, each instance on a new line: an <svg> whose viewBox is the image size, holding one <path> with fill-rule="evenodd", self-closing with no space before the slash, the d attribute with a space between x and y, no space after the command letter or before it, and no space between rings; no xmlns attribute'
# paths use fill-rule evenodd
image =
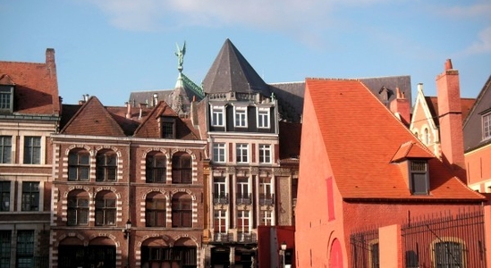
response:
<svg viewBox="0 0 491 268"><path fill-rule="evenodd" d="M102 191L96 196L96 225L113 226L116 224L116 197L113 192Z"/></svg>

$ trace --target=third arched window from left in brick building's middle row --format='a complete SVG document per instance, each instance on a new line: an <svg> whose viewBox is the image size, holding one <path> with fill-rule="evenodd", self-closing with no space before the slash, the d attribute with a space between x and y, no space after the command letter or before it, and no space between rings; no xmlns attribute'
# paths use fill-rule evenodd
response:
<svg viewBox="0 0 491 268"><path fill-rule="evenodd" d="M165 227L165 197L151 193L145 199L145 222L147 227Z"/></svg>

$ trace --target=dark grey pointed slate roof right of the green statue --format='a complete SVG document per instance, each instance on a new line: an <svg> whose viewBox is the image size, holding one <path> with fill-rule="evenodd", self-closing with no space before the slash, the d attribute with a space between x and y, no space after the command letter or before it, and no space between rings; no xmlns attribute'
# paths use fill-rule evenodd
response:
<svg viewBox="0 0 491 268"><path fill-rule="evenodd" d="M263 96L270 96L265 81L228 38L203 80L203 89L206 94L232 91L237 93L260 92Z"/></svg>

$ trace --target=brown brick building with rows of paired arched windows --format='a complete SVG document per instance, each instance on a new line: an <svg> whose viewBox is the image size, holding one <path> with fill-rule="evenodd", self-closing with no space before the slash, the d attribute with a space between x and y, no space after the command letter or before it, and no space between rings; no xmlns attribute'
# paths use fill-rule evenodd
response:
<svg viewBox="0 0 491 268"><path fill-rule="evenodd" d="M200 267L206 143L190 121L165 102L133 111L91 96L63 109L52 267Z"/></svg>

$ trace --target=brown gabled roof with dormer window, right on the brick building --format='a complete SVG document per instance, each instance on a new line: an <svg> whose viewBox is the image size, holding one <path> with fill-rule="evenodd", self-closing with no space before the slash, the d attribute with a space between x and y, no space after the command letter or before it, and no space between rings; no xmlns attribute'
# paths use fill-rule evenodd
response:
<svg viewBox="0 0 491 268"><path fill-rule="evenodd" d="M191 121L189 119L180 118L164 101L159 102L152 112L148 114L141 122L138 129L135 130L133 136L137 138L162 138L159 126L159 119L162 116L175 119L175 138L199 139L199 135L196 132L197 130L192 127Z"/></svg>

